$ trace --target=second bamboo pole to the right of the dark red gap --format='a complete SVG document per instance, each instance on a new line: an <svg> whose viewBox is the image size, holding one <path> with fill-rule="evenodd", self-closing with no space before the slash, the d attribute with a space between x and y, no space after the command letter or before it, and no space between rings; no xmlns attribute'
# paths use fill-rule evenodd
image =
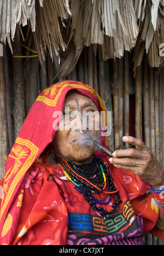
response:
<svg viewBox="0 0 164 256"><path fill-rule="evenodd" d="M148 61L144 56L143 66L143 106L144 106L144 134L145 144L150 148L150 107L149 107L149 85L148 85Z"/></svg>

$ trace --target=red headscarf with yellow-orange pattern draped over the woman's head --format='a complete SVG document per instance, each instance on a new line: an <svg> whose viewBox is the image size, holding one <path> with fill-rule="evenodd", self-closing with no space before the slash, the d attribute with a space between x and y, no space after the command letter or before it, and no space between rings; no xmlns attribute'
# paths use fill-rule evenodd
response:
<svg viewBox="0 0 164 256"><path fill-rule="evenodd" d="M54 123L53 113L62 111L66 94L72 89L91 98L98 110L106 113L106 107L96 91L81 82L72 80L58 82L38 96L7 159L1 203L0 234L2 234L3 224L8 216L10 206L13 205L15 197L21 195L29 168L55 136L56 131L52 126ZM107 115L105 120L107 121ZM102 143L108 147L107 137L103 137Z"/></svg>

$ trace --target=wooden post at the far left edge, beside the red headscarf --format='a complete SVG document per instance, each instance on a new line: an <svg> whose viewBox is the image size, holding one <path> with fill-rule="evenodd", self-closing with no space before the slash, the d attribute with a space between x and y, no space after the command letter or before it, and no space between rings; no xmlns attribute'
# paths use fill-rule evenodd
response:
<svg viewBox="0 0 164 256"><path fill-rule="evenodd" d="M0 44L0 179L4 177L5 162L9 154L7 110L3 69L3 45Z"/></svg>

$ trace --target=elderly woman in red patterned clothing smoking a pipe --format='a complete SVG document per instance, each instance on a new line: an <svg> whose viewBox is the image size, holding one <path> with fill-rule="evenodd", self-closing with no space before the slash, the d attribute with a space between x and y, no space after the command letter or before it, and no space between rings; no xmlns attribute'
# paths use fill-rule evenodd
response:
<svg viewBox="0 0 164 256"><path fill-rule="evenodd" d="M100 113L105 123L96 129ZM63 81L38 96L1 181L1 245L143 245L148 231L164 237L159 162L133 137L123 140L136 149L109 158L92 143L108 148L104 126L106 108L88 85Z"/></svg>

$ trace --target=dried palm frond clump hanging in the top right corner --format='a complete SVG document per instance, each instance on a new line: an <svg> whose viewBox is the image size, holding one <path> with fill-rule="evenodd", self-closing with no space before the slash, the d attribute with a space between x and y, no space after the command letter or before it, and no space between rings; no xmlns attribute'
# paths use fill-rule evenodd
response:
<svg viewBox="0 0 164 256"><path fill-rule="evenodd" d="M163 0L138 0L134 1L139 35L134 48L134 75L136 68L141 65L144 51L147 53L150 67L160 67L163 65L163 57L160 56L160 45L164 42L163 24Z"/></svg>

